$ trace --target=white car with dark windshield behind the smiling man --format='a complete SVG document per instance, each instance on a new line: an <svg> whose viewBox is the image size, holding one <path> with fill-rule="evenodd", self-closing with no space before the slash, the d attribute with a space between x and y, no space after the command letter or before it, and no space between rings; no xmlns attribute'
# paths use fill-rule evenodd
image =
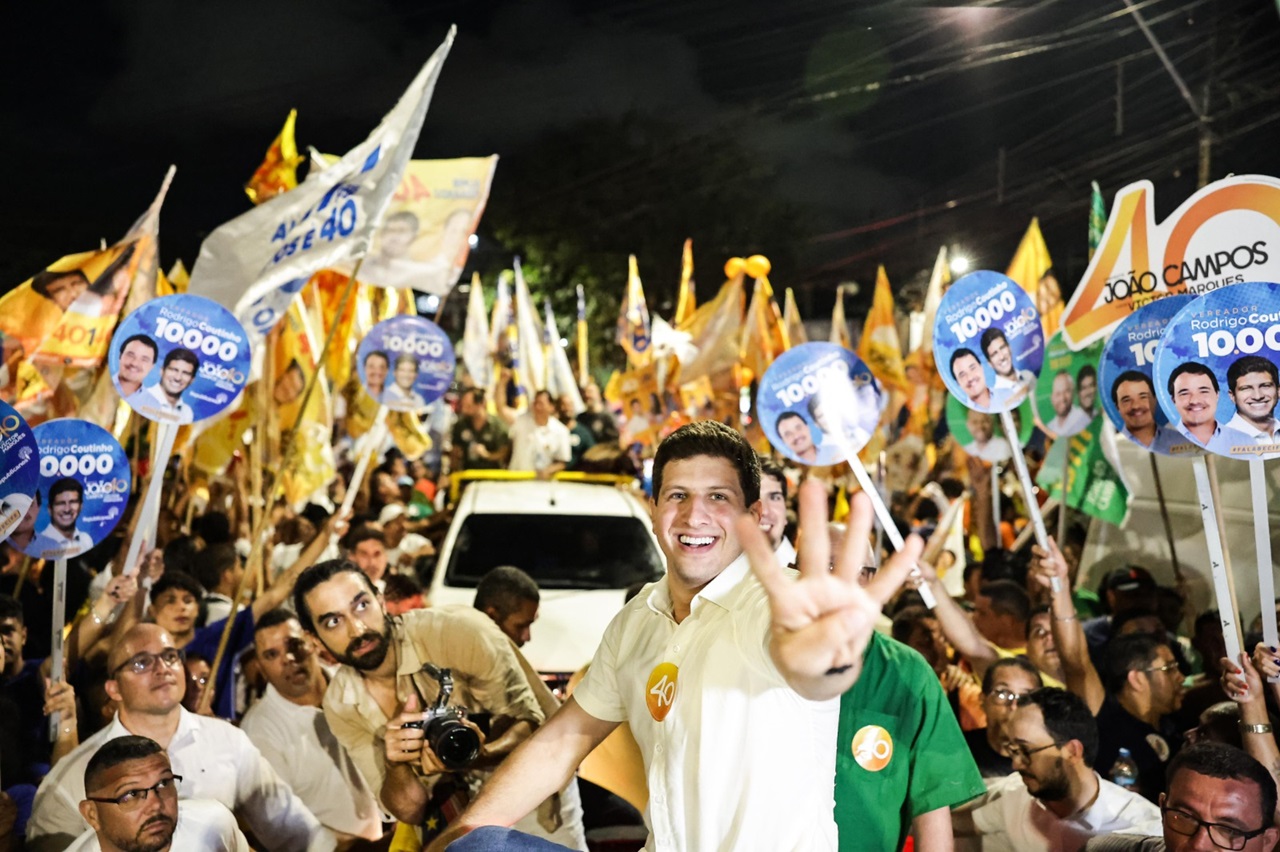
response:
<svg viewBox="0 0 1280 852"><path fill-rule="evenodd" d="M553 687L591 661L628 586L664 571L649 508L631 490L567 481L479 480L462 493L431 580L433 606L475 601L515 565L541 590L522 652Z"/></svg>

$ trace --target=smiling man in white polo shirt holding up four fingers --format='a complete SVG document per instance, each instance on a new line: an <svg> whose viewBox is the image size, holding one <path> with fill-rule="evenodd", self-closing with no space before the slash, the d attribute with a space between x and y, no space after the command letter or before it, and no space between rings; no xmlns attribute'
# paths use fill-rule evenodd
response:
<svg viewBox="0 0 1280 852"><path fill-rule="evenodd" d="M870 509L859 501L835 571L827 536L810 536L801 577L787 576L760 531L756 455L716 421L668 436L653 482L666 578L613 619L573 696L430 849L468 833L454 849L548 848L497 826L554 792L622 722L645 759L650 852L836 848L836 698L858 679L879 601L920 541L864 592ZM803 519L824 525L824 500L806 482Z"/></svg>

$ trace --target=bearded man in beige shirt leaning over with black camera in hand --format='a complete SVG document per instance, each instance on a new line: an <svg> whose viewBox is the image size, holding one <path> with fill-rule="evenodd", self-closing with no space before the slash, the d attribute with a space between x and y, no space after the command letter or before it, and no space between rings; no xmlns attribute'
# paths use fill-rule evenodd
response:
<svg viewBox="0 0 1280 852"><path fill-rule="evenodd" d="M305 571L293 595L303 629L342 664L324 698L330 729L387 811L421 826L426 838L556 707L511 640L479 610L431 608L390 619L369 578L340 559ZM442 707L445 672L454 691ZM448 716L457 709L468 716L461 724ZM488 733L467 760L468 734L460 728L479 733L484 722ZM453 755L456 748L462 753ZM586 848L572 780L518 825Z"/></svg>

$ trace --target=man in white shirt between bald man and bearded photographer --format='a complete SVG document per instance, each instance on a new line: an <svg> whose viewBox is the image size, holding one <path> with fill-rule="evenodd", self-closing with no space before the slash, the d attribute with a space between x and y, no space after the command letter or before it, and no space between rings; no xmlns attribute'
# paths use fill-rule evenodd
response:
<svg viewBox="0 0 1280 852"><path fill-rule="evenodd" d="M244 714L241 730L340 839L381 838L374 791L325 722L321 705L329 678L298 617L273 609L259 619L253 654L268 686Z"/></svg>

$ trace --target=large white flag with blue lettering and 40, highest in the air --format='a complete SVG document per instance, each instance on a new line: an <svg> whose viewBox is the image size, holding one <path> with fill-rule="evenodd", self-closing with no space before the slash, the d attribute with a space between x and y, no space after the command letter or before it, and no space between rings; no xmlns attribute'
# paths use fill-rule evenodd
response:
<svg viewBox="0 0 1280 852"><path fill-rule="evenodd" d="M200 247L188 292L230 308L256 339L284 316L314 272L367 252L413 156L454 33L451 28L367 139L296 189L211 233Z"/></svg>

